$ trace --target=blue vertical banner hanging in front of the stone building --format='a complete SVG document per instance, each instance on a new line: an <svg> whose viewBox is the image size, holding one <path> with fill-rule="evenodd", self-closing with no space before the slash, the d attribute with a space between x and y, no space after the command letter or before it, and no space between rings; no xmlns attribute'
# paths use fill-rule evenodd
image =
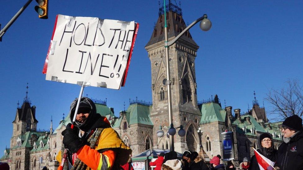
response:
<svg viewBox="0 0 303 170"><path fill-rule="evenodd" d="M233 151L233 132L226 131L221 133L222 147L223 147L223 160L229 161L234 159Z"/></svg>

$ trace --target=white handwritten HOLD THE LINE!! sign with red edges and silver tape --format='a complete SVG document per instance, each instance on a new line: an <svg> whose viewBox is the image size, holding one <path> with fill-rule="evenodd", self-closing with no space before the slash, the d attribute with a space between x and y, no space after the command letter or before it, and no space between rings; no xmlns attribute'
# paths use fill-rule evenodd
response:
<svg viewBox="0 0 303 170"><path fill-rule="evenodd" d="M57 15L43 73L46 80L120 89L139 24Z"/></svg>

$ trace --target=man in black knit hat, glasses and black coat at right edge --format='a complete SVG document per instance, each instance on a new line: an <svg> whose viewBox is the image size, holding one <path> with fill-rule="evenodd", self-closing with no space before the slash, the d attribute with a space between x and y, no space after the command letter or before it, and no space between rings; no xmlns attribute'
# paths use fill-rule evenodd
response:
<svg viewBox="0 0 303 170"><path fill-rule="evenodd" d="M283 143L278 148L278 166L282 170L303 169L302 119L293 115L287 117L280 127Z"/></svg>

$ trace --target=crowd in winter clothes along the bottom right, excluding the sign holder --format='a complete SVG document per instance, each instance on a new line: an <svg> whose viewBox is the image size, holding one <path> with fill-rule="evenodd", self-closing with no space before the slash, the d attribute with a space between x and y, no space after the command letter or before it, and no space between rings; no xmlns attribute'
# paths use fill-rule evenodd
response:
<svg viewBox="0 0 303 170"><path fill-rule="evenodd" d="M268 169L283 169L283 170L300 170L303 169L303 132L302 132L302 119L297 116L290 116L286 118L280 126L280 130L283 133L283 143L279 146L278 150L274 148L274 140L271 134L261 133L258 136L258 150L257 152L263 155L266 159L269 159L273 164L267 167ZM164 156L164 154L162 154ZM166 155L165 155L166 156ZM165 160L165 156L163 159ZM175 157L174 159L177 159ZM239 164L239 167L235 167L233 162L228 161L224 166L221 163L221 156L214 156L210 160L210 164L207 166L204 160L197 152L191 152L186 150L183 152L182 161L180 161L181 167L168 167L168 165L162 165L161 161L157 161L157 167L155 170L260 170L262 166L258 163L256 155L253 155L251 159L245 157ZM178 163L180 164L178 161ZM165 163L165 161L163 161ZM156 165L155 163L151 163ZM163 166L165 168L163 168Z"/></svg>

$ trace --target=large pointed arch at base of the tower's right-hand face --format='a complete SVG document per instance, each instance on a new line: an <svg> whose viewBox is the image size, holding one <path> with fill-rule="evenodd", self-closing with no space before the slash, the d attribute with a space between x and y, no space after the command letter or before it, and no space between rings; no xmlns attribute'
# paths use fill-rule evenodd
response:
<svg viewBox="0 0 303 170"><path fill-rule="evenodd" d="M196 128L191 124L189 125L187 132L186 132L186 143L188 150L196 151L197 147L199 146L199 138L197 134Z"/></svg>

